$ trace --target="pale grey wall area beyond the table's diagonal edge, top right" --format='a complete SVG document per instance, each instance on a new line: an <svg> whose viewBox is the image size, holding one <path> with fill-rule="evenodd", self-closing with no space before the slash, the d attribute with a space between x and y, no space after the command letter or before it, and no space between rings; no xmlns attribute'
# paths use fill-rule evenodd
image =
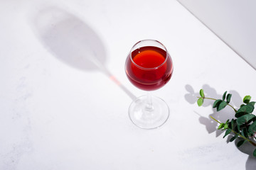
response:
<svg viewBox="0 0 256 170"><path fill-rule="evenodd" d="M256 69L256 1L178 1Z"/></svg>

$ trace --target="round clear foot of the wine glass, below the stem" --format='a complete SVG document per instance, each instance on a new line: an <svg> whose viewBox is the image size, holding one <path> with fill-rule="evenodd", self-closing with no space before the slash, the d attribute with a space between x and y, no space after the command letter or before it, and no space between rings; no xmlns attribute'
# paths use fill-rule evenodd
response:
<svg viewBox="0 0 256 170"><path fill-rule="evenodd" d="M147 96L135 99L129 106L129 118L142 129L159 128L169 118L169 107L164 100L151 96L153 108L147 108Z"/></svg>

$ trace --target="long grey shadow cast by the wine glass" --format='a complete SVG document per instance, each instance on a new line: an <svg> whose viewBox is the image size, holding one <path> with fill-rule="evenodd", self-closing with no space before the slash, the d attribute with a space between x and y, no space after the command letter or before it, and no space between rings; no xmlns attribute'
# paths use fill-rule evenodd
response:
<svg viewBox="0 0 256 170"><path fill-rule="evenodd" d="M61 8L43 8L33 18L33 30L54 57L83 71L100 71L117 84L130 98L136 98L105 67L105 46L90 26Z"/></svg>

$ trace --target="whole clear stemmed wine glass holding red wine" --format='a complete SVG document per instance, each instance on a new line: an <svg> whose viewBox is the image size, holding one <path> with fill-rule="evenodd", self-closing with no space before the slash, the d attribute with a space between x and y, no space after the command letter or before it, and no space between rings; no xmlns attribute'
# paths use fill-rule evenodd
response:
<svg viewBox="0 0 256 170"><path fill-rule="evenodd" d="M171 79L173 62L161 42L141 40L129 52L125 72L129 81L137 88L154 91ZM169 118L169 107L164 100L148 93L131 103L129 118L139 128L159 128Z"/></svg>

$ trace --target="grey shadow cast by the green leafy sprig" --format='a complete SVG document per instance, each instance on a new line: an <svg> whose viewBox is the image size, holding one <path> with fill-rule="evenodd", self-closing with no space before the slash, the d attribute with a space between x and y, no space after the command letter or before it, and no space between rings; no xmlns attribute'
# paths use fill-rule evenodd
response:
<svg viewBox="0 0 256 170"><path fill-rule="evenodd" d="M195 92L193 87L189 84L186 84L185 89L188 92L184 96L186 101L188 101L188 103L191 103L191 104L196 103L196 101L198 100L198 96L200 96L199 93ZM206 97L216 98L216 99L222 98L222 95L217 94L216 90L213 89L212 87L210 87L208 84L204 84L202 89L204 90L204 93L205 93ZM198 91L199 90L200 89L198 89ZM238 92L234 91L234 90L228 91L228 93L232 94L232 99L231 99L232 101L230 101L230 104L232 106L235 106L235 108L239 108L240 105L242 104L242 98L241 98L240 94L238 94ZM203 103L203 107L212 106L212 105L213 105L213 101L205 100L204 103ZM228 113L226 111L217 112L216 109L213 108L213 113L211 113L208 116L208 118L200 115L197 112L195 112L195 113L197 115L199 115L199 122L206 126L206 130L208 131L208 133L216 132L216 137L218 137L224 131L217 130L218 123L216 123L214 120L212 120L212 118L210 118L210 116L212 116L213 118L216 118L217 120L220 120L221 122L225 122L226 120L234 117L233 110L231 109L229 112L230 113ZM227 137L227 143L229 142L231 137L232 137L231 135L229 135ZM235 140L235 146L238 144L238 141L239 141L239 139ZM252 145L250 145L247 142L247 143L245 143L245 145L242 145L241 147L238 147L238 149L241 152L249 155L249 157L247 159L247 162L245 164L246 169L247 170L255 170L256 169L256 158L252 156L252 152L255 149L255 147L253 147Z"/></svg>

